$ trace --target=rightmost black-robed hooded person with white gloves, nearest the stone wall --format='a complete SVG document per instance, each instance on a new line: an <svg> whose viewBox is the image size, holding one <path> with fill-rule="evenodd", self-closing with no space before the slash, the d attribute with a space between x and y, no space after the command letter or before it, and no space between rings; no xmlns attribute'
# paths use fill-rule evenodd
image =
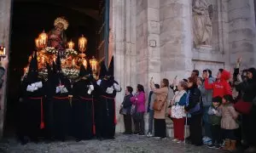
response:
<svg viewBox="0 0 256 153"><path fill-rule="evenodd" d="M96 82L100 87L100 97L97 105L100 111L97 112L96 134L101 139L114 139L116 116L115 116L115 96L121 91L119 83L113 77L113 57L107 71L104 62L101 65L100 79Z"/></svg>

